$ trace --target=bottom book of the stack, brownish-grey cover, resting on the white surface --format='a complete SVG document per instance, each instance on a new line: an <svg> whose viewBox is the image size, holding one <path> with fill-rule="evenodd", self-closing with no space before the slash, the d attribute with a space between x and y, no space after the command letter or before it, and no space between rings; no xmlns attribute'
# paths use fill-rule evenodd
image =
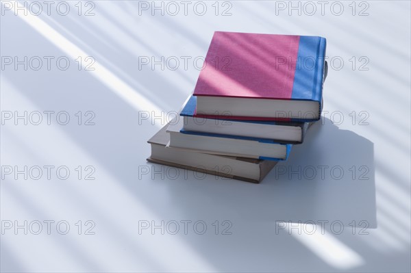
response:
<svg viewBox="0 0 411 273"><path fill-rule="evenodd" d="M260 183L277 164L277 161L213 155L166 147L170 141L170 135L166 132L167 126L148 141L151 144L151 157L147 158L147 161L252 183Z"/></svg>

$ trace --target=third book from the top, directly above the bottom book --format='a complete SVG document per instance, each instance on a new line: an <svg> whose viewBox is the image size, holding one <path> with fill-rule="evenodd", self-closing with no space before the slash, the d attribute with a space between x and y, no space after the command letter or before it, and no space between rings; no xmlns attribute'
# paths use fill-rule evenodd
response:
<svg viewBox="0 0 411 273"><path fill-rule="evenodd" d="M272 140L247 140L237 136L203 135L201 133L182 133L184 120L174 118L166 132L170 133L172 148L184 148L187 151L229 155L253 159L286 160L290 154L291 144L281 144Z"/></svg>

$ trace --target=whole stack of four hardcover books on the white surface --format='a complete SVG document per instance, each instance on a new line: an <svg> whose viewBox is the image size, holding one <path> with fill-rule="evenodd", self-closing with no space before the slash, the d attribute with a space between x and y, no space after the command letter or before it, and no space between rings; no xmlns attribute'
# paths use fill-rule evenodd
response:
<svg viewBox="0 0 411 273"><path fill-rule="evenodd" d="M147 160L259 183L321 117L325 38L214 33L195 90Z"/></svg>

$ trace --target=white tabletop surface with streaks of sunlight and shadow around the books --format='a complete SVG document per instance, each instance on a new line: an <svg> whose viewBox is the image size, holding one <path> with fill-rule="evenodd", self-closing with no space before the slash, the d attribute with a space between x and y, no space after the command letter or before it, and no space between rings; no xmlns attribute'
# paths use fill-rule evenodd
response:
<svg viewBox="0 0 411 273"><path fill-rule="evenodd" d="M4 2L1 5L2 57L71 60L67 70L1 70L3 114L66 111L71 118L65 126L55 119L47 125L45 114L41 125L4 120L1 126L1 166L71 170L66 180L55 172L50 180L46 174L38 180L25 180L21 174L18 179L2 177L3 225L14 220L66 220L71 226L66 235L55 227L51 235L45 230L40 235L3 230L2 271L410 272L409 1L366 1L361 6L356 2L356 14L369 5L369 16L353 16L351 1L341 2L341 16L330 12L332 2L322 16L315 1L314 16L298 16L296 11L290 16L288 10L277 10L276 15L276 5L284 7L288 1L233 1L232 16L215 16L214 1L207 2L204 16L192 12L194 3L187 16L151 16L149 11L139 16L138 3L132 1L95 1L95 16L78 16L77 1L69 3L66 16L57 14L55 5L51 16L15 16L5 10ZM90 8L84 5L82 12ZM229 7L222 5L219 13ZM338 62L329 69L323 125L314 125L306 142L295 146L290 159L278 164L277 172L260 185L212 176L198 179L199 174L196 179L191 172L172 179L173 170L145 161L150 153L146 141L166 120L139 120L139 114L166 116L178 111L199 74L192 60L206 54L214 30L323 36L329 59L344 60L342 69L335 69ZM95 70L78 70L78 56L94 57ZM176 56L181 64L177 70L162 70L159 65L140 70L139 56ZM192 57L187 69L182 56ZM355 70L352 56L357 60ZM362 56L368 57L369 70L358 70ZM78 111L82 122L90 117L84 116L87 111L94 112L95 125L77 125ZM338 122L337 112L333 125L327 118L336 111L344 121ZM353 111L355 125L349 116ZM359 116L362 111L366 113ZM369 125L358 125L367 113ZM83 176L90 171L84 168L93 166L95 180L79 180L77 166L82 166ZM298 166L301 179L288 169L298 172ZM328 166L323 178L321 166ZM342 179L329 173L335 166L345 171ZM351 166L356 166L356 179ZM366 167L358 170L361 166ZM145 174L151 168L160 172ZM312 168L318 172L310 179ZM367 168L369 179L359 180ZM82 233L86 220L95 222L95 235L78 235L78 220ZM197 235L189 226L184 234L180 224L179 233L171 235L170 222L164 235L159 229L154 235L149 229L139 234L139 221L152 220L203 220L208 229ZM212 226L216 220L219 235ZM221 234L223 220L232 223L231 235ZM276 224L279 220L290 222ZM319 226L313 234L312 225L299 226L304 228L301 234L297 228L286 231L299 221ZM329 221L325 234L319 229L321 221ZM333 232L333 221L343 222L343 233L336 234L338 224ZM353 229L362 225L360 221L369 223L368 235L358 235L360 227Z"/></svg>

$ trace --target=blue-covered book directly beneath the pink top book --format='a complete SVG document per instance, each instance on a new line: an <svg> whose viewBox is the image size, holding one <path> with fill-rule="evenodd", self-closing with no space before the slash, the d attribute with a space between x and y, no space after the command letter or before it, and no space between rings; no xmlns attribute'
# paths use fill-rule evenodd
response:
<svg viewBox="0 0 411 273"><path fill-rule="evenodd" d="M202 118L196 115L197 97L190 96L180 116L184 119L182 133L231 135L248 140L274 140L279 143L301 144L310 126L309 122L280 122L260 120L230 120Z"/></svg>

